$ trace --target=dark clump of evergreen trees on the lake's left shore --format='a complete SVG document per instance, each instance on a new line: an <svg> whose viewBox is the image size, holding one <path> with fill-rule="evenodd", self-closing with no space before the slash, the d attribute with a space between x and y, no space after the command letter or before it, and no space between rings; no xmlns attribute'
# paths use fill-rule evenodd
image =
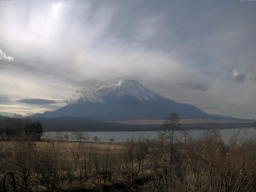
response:
<svg viewBox="0 0 256 192"><path fill-rule="evenodd" d="M33 140L40 140L43 133L42 124L30 119L8 118L0 120L0 140L15 140L20 134L32 136Z"/></svg>

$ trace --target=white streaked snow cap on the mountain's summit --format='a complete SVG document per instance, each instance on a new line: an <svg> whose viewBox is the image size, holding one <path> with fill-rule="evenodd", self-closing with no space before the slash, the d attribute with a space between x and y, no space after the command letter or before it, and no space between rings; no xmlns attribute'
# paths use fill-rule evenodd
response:
<svg viewBox="0 0 256 192"><path fill-rule="evenodd" d="M139 101L150 101L162 96L135 80L123 80L122 86L111 92L106 98L119 100L127 97L133 97Z"/></svg>

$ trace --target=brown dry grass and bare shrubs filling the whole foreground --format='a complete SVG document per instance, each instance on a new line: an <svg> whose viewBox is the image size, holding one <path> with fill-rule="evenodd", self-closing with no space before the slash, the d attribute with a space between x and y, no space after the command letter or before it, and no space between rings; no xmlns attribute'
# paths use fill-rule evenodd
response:
<svg viewBox="0 0 256 192"><path fill-rule="evenodd" d="M192 139L174 134L170 116L160 140L126 143L0 142L0 180L12 171L17 191L250 192L256 185L256 141L238 134L224 144L216 124ZM2 185L2 182L1 182ZM0 186L0 189L2 186Z"/></svg>

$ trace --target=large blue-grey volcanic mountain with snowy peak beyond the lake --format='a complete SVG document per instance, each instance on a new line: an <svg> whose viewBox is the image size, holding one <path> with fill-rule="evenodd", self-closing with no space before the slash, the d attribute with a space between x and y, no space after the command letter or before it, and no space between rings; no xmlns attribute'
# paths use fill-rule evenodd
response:
<svg viewBox="0 0 256 192"><path fill-rule="evenodd" d="M123 80L103 102L79 99L53 112L34 114L31 118L54 118L72 116L100 121L124 121L139 119L166 119L170 112L178 112L181 119L224 119L208 114L196 106L170 100L134 80Z"/></svg>

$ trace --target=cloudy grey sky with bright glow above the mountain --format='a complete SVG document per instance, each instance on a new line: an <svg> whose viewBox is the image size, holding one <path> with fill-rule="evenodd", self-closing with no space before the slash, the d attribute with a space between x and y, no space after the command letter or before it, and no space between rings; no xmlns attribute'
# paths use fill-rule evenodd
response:
<svg viewBox="0 0 256 192"><path fill-rule="evenodd" d="M256 1L0 1L0 115L120 79L256 119Z"/></svg>

